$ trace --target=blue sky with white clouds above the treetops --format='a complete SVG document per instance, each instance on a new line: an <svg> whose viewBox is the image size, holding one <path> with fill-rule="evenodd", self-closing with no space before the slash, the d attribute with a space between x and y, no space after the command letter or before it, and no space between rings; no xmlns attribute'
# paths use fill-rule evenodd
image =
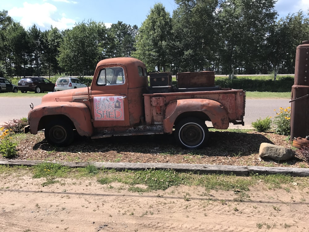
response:
<svg viewBox="0 0 309 232"><path fill-rule="evenodd" d="M72 29L76 23L88 20L103 22L107 27L118 21L140 27L158 2L172 15L174 0L0 0L0 11L8 11L26 30L33 24L41 31L51 25L59 30ZM299 10L307 14L308 8L309 0L278 0L275 5L278 18Z"/></svg>

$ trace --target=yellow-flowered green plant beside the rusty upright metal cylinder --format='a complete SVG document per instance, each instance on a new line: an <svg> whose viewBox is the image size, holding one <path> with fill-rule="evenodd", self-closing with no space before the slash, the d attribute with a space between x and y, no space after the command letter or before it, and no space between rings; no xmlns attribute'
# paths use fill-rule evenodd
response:
<svg viewBox="0 0 309 232"><path fill-rule="evenodd" d="M291 107L283 109L279 108L279 113L273 118L273 124L275 125L275 133L278 135L290 135L290 119L291 119ZM274 110L276 111L276 109Z"/></svg>

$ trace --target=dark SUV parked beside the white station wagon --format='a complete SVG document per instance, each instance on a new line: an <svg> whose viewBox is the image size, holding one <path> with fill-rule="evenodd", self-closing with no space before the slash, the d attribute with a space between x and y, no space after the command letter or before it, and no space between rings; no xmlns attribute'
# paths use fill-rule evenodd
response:
<svg viewBox="0 0 309 232"><path fill-rule="evenodd" d="M55 84L46 78L33 76L25 77L18 81L20 92L54 92Z"/></svg>

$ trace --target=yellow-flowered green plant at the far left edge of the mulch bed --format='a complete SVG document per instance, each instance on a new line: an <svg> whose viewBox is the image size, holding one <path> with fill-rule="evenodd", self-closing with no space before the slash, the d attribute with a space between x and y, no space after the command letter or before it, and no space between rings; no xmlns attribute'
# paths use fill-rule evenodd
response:
<svg viewBox="0 0 309 232"><path fill-rule="evenodd" d="M11 134L14 134L12 130L5 130L4 127L0 128L0 154L8 159L14 157L17 154L17 144L12 141L12 137L10 137Z"/></svg>

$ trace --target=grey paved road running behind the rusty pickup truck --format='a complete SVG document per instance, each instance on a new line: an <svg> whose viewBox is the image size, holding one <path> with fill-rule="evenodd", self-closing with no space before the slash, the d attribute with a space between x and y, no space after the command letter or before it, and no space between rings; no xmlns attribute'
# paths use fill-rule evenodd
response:
<svg viewBox="0 0 309 232"><path fill-rule="evenodd" d="M245 126L230 124L230 128L252 128L251 122L258 118L275 116L274 109L290 106L289 99L247 99L244 122ZM0 97L0 125L12 119L28 116L30 103L39 105L41 97ZM208 126L212 126L207 123Z"/></svg>

